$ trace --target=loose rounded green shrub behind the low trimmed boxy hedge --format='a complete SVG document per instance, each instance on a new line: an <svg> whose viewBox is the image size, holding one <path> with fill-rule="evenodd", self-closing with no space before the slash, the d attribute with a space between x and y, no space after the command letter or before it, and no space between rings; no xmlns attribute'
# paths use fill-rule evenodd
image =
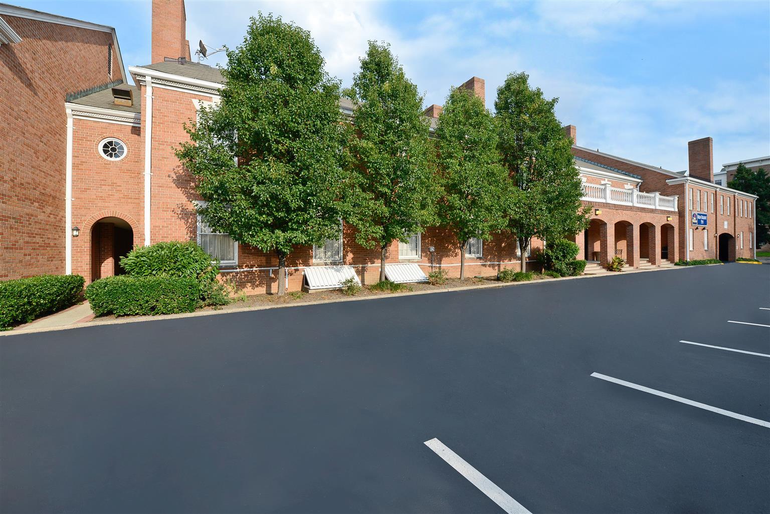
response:
<svg viewBox="0 0 770 514"><path fill-rule="evenodd" d="M179 277L195 279L200 298L206 305L230 302L226 286L216 280L219 262L213 260L195 241L162 241L149 247L136 247L120 265L132 277Z"/></svg>

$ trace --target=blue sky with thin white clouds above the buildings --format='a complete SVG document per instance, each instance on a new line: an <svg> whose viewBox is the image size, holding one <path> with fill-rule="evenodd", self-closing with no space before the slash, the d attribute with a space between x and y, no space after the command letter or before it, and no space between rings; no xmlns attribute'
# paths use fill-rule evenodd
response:
<svg viewBox="0 0 770 514"><path fill-rule="evenodd" d="M112 25L126 66L149 62L149 2L19 2ZM714 138L722 163L770 155L770 2L195 2L193 50L237 45L249 15L309 30L329 72L349 85L367 40L390 42L407 75L442 104L471 76L487 106L509 72L526 71L577 143L671 170L687 142ZM214 55L208 63L223 64Z"/></svg>

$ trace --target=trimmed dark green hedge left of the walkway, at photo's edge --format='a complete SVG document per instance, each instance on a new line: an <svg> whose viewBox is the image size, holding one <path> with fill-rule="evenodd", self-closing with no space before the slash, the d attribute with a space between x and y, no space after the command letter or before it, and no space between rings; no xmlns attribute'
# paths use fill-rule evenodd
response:
<svg viewBox="0 0 770 514"><path fill-rule="evenodd" d="M0 282L0 330L75 304L83 282L80 275L39 275Z"/></svg>

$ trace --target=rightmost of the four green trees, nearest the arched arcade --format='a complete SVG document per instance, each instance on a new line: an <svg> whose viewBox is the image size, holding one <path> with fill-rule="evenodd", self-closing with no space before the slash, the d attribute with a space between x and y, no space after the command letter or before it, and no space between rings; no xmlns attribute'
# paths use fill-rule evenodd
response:
<svg viewBox="0 0 770 514"><path fill-rule="evenodd" d="M572 141L554 114L557 101L532 88L521 72L507 76L494 102L500 154L516 190L507 230L521 248L521 270L532 237L556 239L588 227L590 207L581 203Z"/></svg>

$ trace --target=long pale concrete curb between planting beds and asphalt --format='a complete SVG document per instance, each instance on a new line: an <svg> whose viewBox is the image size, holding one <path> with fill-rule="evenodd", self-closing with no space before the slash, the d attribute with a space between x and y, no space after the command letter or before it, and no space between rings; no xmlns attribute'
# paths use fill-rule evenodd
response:
<svg viewBox="0 0 770 514"><path fill-rule="evenodd" d="M718 266L718 264L706 264L706 266ZM2 331L0 332L0 338L4 337L10 337L13 335L22 335L22 334L37 334L39 332L52 332L52 331L60 331L60 330L71 330L73 328L85 328L85 327L98 327L102 325L112 325L112 324L127 324L127 323L141 323L142 321L163 321L163 320L172 320L172 319L179 319L182 317L199 317L199 316L215 316L217 314L235 314L239 312L252 312L252 311L266 311L268 309L280 309L280 308L286 308L286 307L306 307L307 305L323 305L323 304L336 304L340 302L346 302L346 301L367 301L367 300L380 300L382 298L394 298L394 297L403 297L403 296L414 296L417 294L436 294L436 293L448 293L452 291L470 291L470 290L483 290L483 289L496 289L499 287L512 287L512 286L522 286L522 285L531 285L531 284L543 284L543 283L554 283L557 281L569 281L569 280L580 280L584 278L597 278L597 277L608 277L608 276L614 276L614 275L623 275L623 274L634 274L634 273L645 273L648 271L663 271L663 270L676 270L676 269L686 269L686 268L692 268L692 267L698 267L698 266L672 266L672 267L657 267L657 268L650 268L646 270L628 270L628 271L621 271L617 273L613 272L605 272L602 274L584 274L580 275L579 277L559 277L559 278L551 278L548 280L543 281L527 281L527 282L500 282L497 284L480 284L480 285L474 285L474 286L461 286L461 287L447 287L447 288L437 288L433 291L410 291L407 293L396 293L396 294L378 294L376 296L367 296L367 297L343 297L343 298L337 298L335 300L329 300L329 301L304 301L304 302L298 302L296 304L283 304L283 305L258 305L256 307L241 307L238 309L227 309L227 310L221 310L221 311L196 311L196 312L184 312L181 314L159 314L157 316L136 316L136 317L126 317L126 318L118 318L118 319L111 319L111 320L104 320L104 321L87 321L85 323L82 323L81 321L78 321L74 324L69 325L62 325L60 327L50 327L50 328L29 328L29 329L21 329L21 330L10 330L10 331ZM84 318L85 319L85 318Z"/></svg>

